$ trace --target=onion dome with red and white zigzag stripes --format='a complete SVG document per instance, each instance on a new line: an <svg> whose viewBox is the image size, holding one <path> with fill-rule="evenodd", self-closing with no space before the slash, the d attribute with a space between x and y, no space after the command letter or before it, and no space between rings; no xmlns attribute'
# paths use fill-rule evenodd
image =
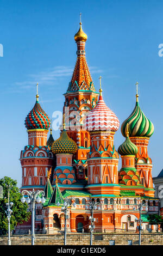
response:
<svg viewBox="0 0 163 256"><path fill-rule="evenodd" d="M86 129L88 131L117 131L119 127L120 121L106 106L103 96L100 95L97 105L86 117Z"/></svg>

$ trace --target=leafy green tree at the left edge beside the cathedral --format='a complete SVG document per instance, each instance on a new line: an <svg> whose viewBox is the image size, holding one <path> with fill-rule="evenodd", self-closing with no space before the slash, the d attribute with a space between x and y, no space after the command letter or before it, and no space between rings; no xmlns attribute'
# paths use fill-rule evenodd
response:
<svg viewBox="0 0 163 256"><path fill-rule="evenodd" d="M10 189L10 202L13 202L12 214L10 218L10 230L14 230L17 223L23 223L23 221L28 221L30 217L30 212L27 212L28 204L22 203L22 195L19 188L16 186L17 181L4 176L0 179L0 185L3 187L3 198L0 198L0 234L7 234L8 231L8 219L5 211L7 210L6 203L8 203L8 187L12 186Z"/></svg>

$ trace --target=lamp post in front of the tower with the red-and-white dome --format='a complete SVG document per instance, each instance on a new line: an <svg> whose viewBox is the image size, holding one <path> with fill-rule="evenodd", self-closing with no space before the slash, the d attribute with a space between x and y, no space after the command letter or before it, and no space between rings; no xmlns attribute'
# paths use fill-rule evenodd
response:
<svg viewBox="0 0 163 256"><path fill-rule="evenodd" d="M98 206L97 206L98 205ZM92 245L92 237L93 237L93 230L95 229L95 224L94 222L96 221L95 218L93 218L93 210L100 210L99 203L98 202L87 202L87 205L85 206L85 209L90 209L91 210L91 216L89 219L91 220L91 225L89 225L89 229L91 231L91 241L90 245Z"/></svg>

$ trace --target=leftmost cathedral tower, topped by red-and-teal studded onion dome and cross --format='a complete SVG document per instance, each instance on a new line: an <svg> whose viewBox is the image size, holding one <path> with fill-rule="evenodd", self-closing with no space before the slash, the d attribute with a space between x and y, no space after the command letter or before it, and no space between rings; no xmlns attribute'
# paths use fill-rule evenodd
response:
<svg viewBox="0 0 163 256"><path fill-rule="evenodd" d="M38 86L38 84L37 84ZM47 145L47 133L50 126L48 115L39 103L38 92L36 103L26 117L28 145L21 151L22 187L32 190L46 185L48 171L52 170L53 153Z"/></svg>

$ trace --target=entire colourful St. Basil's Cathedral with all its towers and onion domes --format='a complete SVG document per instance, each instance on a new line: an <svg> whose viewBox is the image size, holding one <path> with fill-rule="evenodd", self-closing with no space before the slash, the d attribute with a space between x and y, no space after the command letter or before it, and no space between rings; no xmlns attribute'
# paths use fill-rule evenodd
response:
<svg viewBox="0 0 163 256"><path fill-rule="evenodd" d="M153 230L147 217L159 211L152 160L148 156L154 126L142 112L136 93L135 108L121 125L124 142L115 149L120 121L103 100L101 78L99 93L96 92L86 62L87 35L81 22L74 40L77 61L64 94L60 137L54 141L52 121L40 106L38 91L35 105L25 119L28 145L20 156L21 191L43 190L46 197L45 204L36 204L35 231L55 234L64 230L64 198L70 199L67 231L89 232L89 202L99 203L94 210L95 232L136 230L140 203L144 230ZM120 156L122 167L118 170ZM25 234L30 225L30 220L19 224L16 232Z"/></svg>

